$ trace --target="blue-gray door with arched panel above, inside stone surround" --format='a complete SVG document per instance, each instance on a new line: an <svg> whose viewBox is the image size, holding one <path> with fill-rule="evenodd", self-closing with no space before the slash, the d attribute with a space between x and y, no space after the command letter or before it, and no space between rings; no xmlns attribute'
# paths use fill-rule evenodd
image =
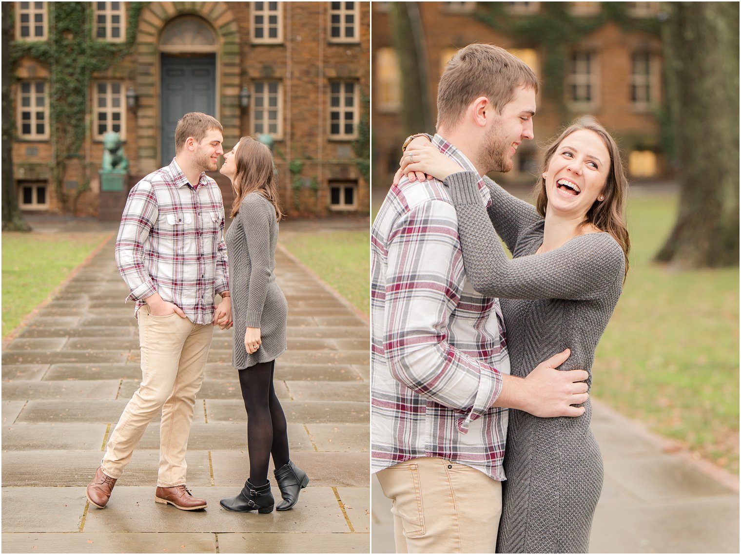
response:
<svg viewBox="0 0 741 555"><path fill-rule="evenodd" d="M159 39L160 164L175 156L175 127L187 112L219 118L216 110L216 33L198 16L168 22Z"/></svg>

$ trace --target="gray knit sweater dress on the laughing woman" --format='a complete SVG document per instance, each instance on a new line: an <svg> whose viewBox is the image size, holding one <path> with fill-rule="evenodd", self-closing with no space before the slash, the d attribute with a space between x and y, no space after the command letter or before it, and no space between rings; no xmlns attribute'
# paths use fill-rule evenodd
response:
<svg viewBox="0 0 741 555"><path fill-rule="evenodd" d="M542 216L488 178L492 203L485 209L478 180L460 172L445 185L456 206L468 279L480 293L502 299L512 375L527 376L570 348L559 369L587 370L591 387L594 350L622 291L621 247L608 233L588 233L531 256L542 244ZM497 553L588 551L603 473L589 401L585 408L576 418L510 411Z"/></svg>

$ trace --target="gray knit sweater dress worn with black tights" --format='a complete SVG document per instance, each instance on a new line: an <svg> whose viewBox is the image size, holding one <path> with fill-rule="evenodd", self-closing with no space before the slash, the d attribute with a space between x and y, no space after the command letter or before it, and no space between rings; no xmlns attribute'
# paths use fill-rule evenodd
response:
<svg viewBox="0 0 741 555"><path fill-rule="evenodd" d="M288 303L276 283L278 222L268 199L250 193L225 235L229 254L229 292L234 321L234 368L275 360L286 348ZM260 328L262 344L245 349L245 330Z"/></svg>

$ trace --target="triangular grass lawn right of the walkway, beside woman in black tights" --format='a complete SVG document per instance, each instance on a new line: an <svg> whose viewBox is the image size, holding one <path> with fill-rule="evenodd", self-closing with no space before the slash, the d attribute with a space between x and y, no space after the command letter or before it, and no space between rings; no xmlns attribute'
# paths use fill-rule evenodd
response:
<svg viewBox="0 0 741 555"><path fill-rule="evenodd" d="M371 313L368 230L281 233L280 243L362 313Z"/></svg>

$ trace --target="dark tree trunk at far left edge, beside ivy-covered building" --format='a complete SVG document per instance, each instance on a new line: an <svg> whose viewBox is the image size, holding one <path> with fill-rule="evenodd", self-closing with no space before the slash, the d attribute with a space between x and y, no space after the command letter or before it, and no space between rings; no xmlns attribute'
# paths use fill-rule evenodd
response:
<svg viewBox="0 0 741 555"><path fill-rule="evenodd" d="M18 205L16 182L13 180L13 96L10 84L10 28L13 12L10 2L2 3L2 229L30 231Z"/></svg>

